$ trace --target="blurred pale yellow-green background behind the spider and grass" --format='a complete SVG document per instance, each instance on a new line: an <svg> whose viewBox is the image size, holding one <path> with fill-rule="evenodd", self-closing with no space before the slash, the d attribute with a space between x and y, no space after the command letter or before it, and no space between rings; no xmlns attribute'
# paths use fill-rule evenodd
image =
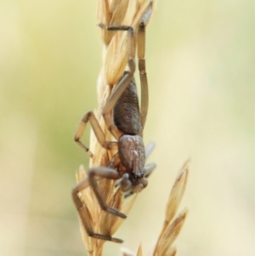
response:
<svg viewBox="0 0 255 256"><path fill-rule="evenodd" d="M157 168L116 233L150 252L186 158L178 255L254 253L254 3L157 3L147 33L144 140ZM97 106L96 1L0 2L0 255L86 255L71 202L88 156L73 142ZM88 132L84 135L88 143ZM121 255L107 243L105 255Z"/></svg>

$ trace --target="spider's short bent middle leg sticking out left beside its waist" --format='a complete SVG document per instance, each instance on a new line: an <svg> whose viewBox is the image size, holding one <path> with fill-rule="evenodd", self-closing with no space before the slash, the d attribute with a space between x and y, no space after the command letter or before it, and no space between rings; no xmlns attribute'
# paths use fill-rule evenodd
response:
<svg viewBox="0 0 255 256"><path fill-rule="evenodd" d="M93 153L89 151L88 147L84 145L80 140L82 138L82 134L86 128L88 121L90 122L91 127L94 130L94 134L96 135L100 145L102 145L106 150L111 150L113 147L117 146L116 142L105 141L105 134L103 133L102 128L100 128L99 122L94 116L94 112L88 111L87 113L85 113L85 115L82 117L82 121L79 123L74 140L77 142L79 146L82 147L84 151L88 152L88 155L90 157L93 157Z"/></svg>

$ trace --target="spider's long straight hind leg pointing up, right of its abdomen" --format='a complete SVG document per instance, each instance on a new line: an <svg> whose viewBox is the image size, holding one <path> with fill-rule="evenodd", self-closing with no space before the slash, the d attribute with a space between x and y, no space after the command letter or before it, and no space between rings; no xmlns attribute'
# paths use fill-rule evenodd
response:
<svg viewBox="0 0 255 256"><path fill-rule="evenodd" d="M150 15L152 13L152 2L150 2L149 9L143 15L139 23L139 31L137 37L138 44L138 59L139 59L139 75L141 82L141 126L144 128L146 122L146 116L149 105L149 92L148 92L148 81L145 69L145 26L147 25Z"/></svg>

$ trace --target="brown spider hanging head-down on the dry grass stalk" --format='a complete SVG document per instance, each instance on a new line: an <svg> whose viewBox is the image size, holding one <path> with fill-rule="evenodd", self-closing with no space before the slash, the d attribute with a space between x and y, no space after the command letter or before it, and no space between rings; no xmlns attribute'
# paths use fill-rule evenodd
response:
<svg viewBox="0 0 255 256"><path fill-rule="evenodd" d="M152 11L152 2L149 9L145 12L139 22L138 29L138 58L139 58L139 76L141 82L141 109L139 110L139 99L137 94L136 84L133 78L135 71L135 48L136 41L134 29L132 26L104 26L99 24L102 29L111 31L127 31L127 55L129 71L124 71L122 77L117 82L110 97L106 100L103 117L105 124L116 141L105 141L105 134L99 126L99 122L94 116L93 111L88 111L83 117L77 128L75 141L78 145L88 152L88 155L93 157L86 145L81 142L81 137L86 124L89 121L94 130L94 134L99 140L99 144L106 150L117 148L117 153L112 157L108 167L94 167L88 171L88 179L80 181L72 191L73 201L77 207L82 224L86 229L88 236L94 238L108 240L112 242L122 242L121 239L107 235L94 233L91 223L86 219L86 208L83 208L80 198L77 193L84 190L88 185L91 185L94 194L97 197L99 206L108 213L115 214L121 218L127 218L124 213L121 213L116 208L109 207L102 195L102 192L97 184L98 179L121 179L117 185L120 185L122 191L127 192L127 196L142 191L148 184L147 177L156 168L155 163L145 165L145 159L153 150L154 145L151 143L146 150L142 139L142 132L146 120L148 110L148 82L145 72L144 60L144 43L145 43L145 26L150 19ZM113 122L111 113L113 112Z"/></svg>

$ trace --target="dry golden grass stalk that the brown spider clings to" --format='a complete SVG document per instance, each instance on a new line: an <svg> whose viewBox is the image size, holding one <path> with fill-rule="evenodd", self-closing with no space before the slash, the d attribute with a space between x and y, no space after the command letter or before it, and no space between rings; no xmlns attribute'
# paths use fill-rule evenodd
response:
<svg viewBox="0 0 255 256"><path fill-rule="evenodd" d="M136 28L149 2L149 0L99 0L97 11L98 23L104 24L105 26L125 24ZM102 117L102 109L105 105L105 101L111 94L111 90L120 77L122 77L122 73L127 65L127 51L123 50L127 48L127 33L124 31L107 31L102 28L99 28L99 33L104 43L104 48L103 65L99 72L97 82L99 107L95 115L105 133L105 139L112 140L111 133L106 128L104 118ZM91 132L89 148L94 154L94 157L90 159L90 168L108 166L112 156L116 154L116 150L106 151L99 145L93 132ZM79 168L77 171L77 182L86 179L86 177L85 169L83 167ZM116 182L114 180L100 179L98 183L105 196L105 201L109 206L119 209L122 213L129 213L137 195L133 196L133 198L125 204L123 203L122 191L115 189ZM94 192L89 186L79 193L79 197L85 209L85 211L83 211L83 214L85 214L84 217L88 219L88 225L92 225L94 232L112 236L119 226L122 225L123 219L105 213L99 208ZM80 226L82 241L87 248L88 255L102 255L105 241L91 238L88 236L86 230L84 230L82 223ZM139 251L139 255L141 255L141 250Z"/></svg>

